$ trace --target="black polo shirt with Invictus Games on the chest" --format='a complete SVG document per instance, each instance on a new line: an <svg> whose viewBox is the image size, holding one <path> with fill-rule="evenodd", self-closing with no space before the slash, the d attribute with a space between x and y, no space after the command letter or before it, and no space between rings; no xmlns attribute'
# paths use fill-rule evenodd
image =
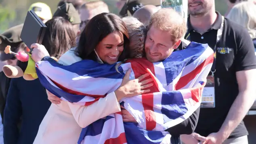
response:
<svg viewBox="0 0 256 144"><path fill-rule="evenodd" d="M193 30L188 18L190 41L208 44L214 49L217 31L221 27L222 17L218 17L212 27L203 35ZM256 68L254 45L248 31L240 25L224 19L222 36L216 44L215 108L201 108L195 132L208 136L217 132L224 122L231 105L238 95L236 72ZM243 121L231 133L229 138L248 135Z"/></svg>

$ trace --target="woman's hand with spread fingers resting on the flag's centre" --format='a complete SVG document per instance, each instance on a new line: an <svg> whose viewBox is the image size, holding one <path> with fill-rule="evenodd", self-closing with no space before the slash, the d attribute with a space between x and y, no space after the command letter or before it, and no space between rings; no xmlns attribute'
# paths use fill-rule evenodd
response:
<svg viewBox="0 0 256 144"><path fill-rule="evenodd" d="M149 76L148 73L141 75L137 79L133 79L133 80L129 79L130 73L131 73L131 69L128 69L128 71L124 75L121 86L117 90L115 90L115 96L117 97L118 101L124 97L132 97L132 96L137 96L143 93L150 92L150 90L145 90L145 89L153 86L153 83L149 83L153 81L152 78L143 80Z"/></svg>

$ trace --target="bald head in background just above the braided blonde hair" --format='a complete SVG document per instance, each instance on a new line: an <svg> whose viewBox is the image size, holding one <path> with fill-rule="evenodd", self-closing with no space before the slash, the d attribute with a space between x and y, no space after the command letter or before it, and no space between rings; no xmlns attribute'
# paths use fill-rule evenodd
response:
<svg viewBox="0 0 256 144"><path fill-rule="evenodd" d="M145 5L135 11L133 17L139 19L144 25L149 25L151 15L155 13L159 8L154 5Z"/></svg>

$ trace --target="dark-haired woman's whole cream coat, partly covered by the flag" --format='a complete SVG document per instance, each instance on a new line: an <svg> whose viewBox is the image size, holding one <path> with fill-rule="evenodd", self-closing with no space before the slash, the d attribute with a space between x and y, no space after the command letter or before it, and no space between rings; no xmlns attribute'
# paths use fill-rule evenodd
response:
<svg viewBox="0 0 256 144"><path fill-rule="evenodd" d="M76 56L72 49L59 59L59 63L63 65L78 61L81 61L81 58ZM33 144L77 144L82 127L120 111L120 104L114 92L90 106L79 106L65 101L51 104Z"/></svg>

